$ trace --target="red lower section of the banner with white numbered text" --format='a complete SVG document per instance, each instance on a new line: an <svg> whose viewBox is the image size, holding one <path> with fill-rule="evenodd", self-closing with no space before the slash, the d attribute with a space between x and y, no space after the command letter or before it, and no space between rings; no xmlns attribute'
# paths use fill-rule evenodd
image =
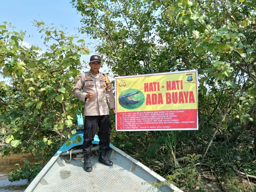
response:
<svg viewBox="0 0 256 192"><path fill-rule="evenodd" d="M197 109L117 113L117 131L198 130Z"/></svg>

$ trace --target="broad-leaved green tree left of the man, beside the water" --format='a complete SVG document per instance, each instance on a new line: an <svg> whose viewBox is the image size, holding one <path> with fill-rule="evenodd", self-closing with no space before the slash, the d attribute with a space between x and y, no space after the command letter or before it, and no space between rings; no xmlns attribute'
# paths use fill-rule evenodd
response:
<svg viewBox="0 0 256 192"><path fill-rule="evenodd" d="M84 40L77 41L80 47L74 42L77 37L63 30L38 21L34 25L43 33L46 52L33 45L22 46L25 33L10 30L11 24L0 26L0 67L3 75L11 78L10 85L0 83L0 129L12 146L4 155L13 150L38 154L60 147L62 138L72 135L73 117L84 106L72 96L81 69L80 56L89 54Z"/></svg>

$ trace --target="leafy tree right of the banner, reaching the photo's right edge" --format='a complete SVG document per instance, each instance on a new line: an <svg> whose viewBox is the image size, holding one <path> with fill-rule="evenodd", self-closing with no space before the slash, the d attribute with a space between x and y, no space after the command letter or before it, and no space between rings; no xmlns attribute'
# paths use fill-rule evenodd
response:
<svg viewBox="0 0 256 192"><path fill-rule="evenodd" d="M215 83L218 90L233 94L228 118L240 118L238 124L241 124L232 130L234 134L228 139L228 142L234 141L247 122L252 121L256 105L255 4L243 0L178 0L162 5L171 23L185 29L192 56L207 61L206 65L198 66L202 77L200 89L203 91L205 85L214 89ZM236 103L240 105L235 106ZM227 122L222 123L222 128L227 128Z"/></svg>

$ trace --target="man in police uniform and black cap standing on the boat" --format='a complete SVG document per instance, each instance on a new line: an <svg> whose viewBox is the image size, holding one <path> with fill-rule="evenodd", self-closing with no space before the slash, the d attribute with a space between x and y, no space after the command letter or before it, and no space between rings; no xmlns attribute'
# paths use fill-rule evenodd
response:
<svg viewBox="0 0 256 192"><path fill-rule="evenodd" d="M115 99L113 95L112 85L108 76L99 71L101 67L101 57L92 55L89 66L91 70L83 72L78 76L73 94L78 99L84 101L84 170L92 171L90 154L92 153L92 141L99 127L99 146L100 157L99 162L112 166L106 155L109 149L111 124L109 117L109 109L107 105L106 95L108 98L109 108L116 114ZM81 92L83 90L83 92Z"/></svg>

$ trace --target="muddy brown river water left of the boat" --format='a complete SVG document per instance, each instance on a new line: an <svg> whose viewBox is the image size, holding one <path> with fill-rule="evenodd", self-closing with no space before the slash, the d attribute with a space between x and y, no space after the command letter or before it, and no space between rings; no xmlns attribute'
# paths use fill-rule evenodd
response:
<svg viewBox="0 0 256 192"><path fill-rule="evenodd" d="M21 192L25 191L28 187L27 180L9 181L8 175L11 171L19 168L15 166L16 163L20 164L20 167L24 166L24 160L27 159L30 162L30 166L36 163L32 155L11 155L10 157L4 156L0 153L0 192Z"/></svg>

